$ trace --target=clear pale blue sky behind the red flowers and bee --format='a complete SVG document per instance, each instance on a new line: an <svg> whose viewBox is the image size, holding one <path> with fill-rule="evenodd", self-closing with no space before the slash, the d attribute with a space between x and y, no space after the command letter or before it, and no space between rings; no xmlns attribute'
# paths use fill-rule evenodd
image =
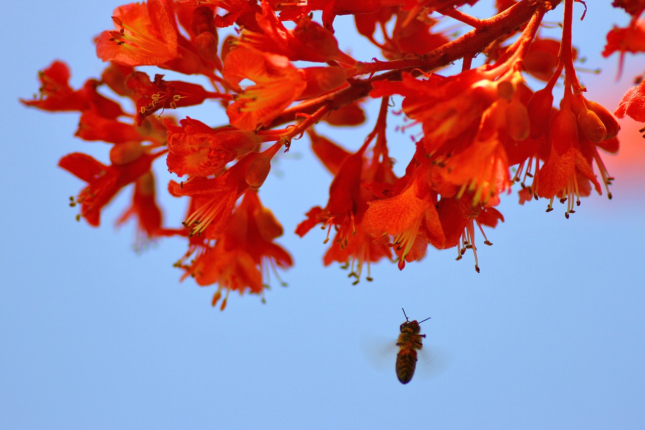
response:
<svg viewBox="0 0 645 430"><path fill-rule="evenodd" d="M613 110L645 56L628 56L616 82L617 57L604 61L599 52L611 23L628 17L610 1L587 4L574 41L587 67L604 73L581 79L589 98ZM470 253L454 261L454 250L429 249L402 272L375 265L375 280L355 286L339 267L322 267L323 232L292 233L304 212L326 203L331 179L297 141L261 190L296 261L283 274L289 285L273 279L264 305L233 294L220 312L210 306L213 288L179 283L172 263L183 241L136 254L133 225L112 227L130 190L106 210L100 229L74 220L68 197L83 185L57 161L79 150L105 161L108 145L73 138L75 114L17 102L37 91L37 70L53 59L72 67L74 87L99 76L92 37L111 28L117 5L35 0L11 3L5 15L0 427L644 427L645 141L638 124L623 121L620 155L604 156L616 177L613 200L586 198L566 220L564 207L521 207L513 193L501 205L506 222L486 230L495 245L480 247L481 274ZM547 19L561 14L559 6ZM339 32L343 22L350 21L338 21ZM196 118L209 122L203 112ZM362 142L360 134L342 136L349 148ZM410 145L396 137L393 147ZM407 159L399 161L403 169ZM163 163L157 167L164 172ZM168 179L167 172L159 178L160 190ZM179 221L182 203L164 203L170 221ZM414 319L432 317L422 323L424 349L437 357L422 358L408 385L395 376L395 351L384 368L374 363L381 345L395 342L401 307Z"/></svg>

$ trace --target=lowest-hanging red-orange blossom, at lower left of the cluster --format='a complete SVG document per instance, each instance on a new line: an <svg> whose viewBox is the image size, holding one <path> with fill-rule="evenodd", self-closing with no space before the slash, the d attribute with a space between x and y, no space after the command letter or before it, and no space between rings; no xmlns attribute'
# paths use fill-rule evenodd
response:
<svg viewBox="0 0 645 430"><path fill-rule="evenodd" d="M282 234L282 226L270 210L261 205L257 192L250 190L233 210L228 228L215 245L211 246L208 241L192 245L176 266L186 271L182 279L190 275L199 285L218 284L213 306L226 290L221 304L223 310L230 291L261 294L266 286L263 277L268 275L268 269L275 272L277 267L286 269L293 265L288 252L273 243ZM195 252L195 259L186 265L184 262Z"/></svg>

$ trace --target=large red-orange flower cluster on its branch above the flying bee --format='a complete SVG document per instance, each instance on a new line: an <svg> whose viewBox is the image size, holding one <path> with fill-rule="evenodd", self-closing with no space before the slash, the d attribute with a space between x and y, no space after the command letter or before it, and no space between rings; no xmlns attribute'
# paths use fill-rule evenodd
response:
<svg viewBox="0 0 645 430"><path fill-rule="evenodd" d="M283 227L259 190L272 160L300 136L334 177L326 205L308 210L295 228L299 236L317 225L327 230L325 265L341 263L357 283L372 279L371 263L390 260L403 269L432 245L457 249L458 260L470 250L479 272L477 236L492 245L484 227L504 220L495 207L514 187L520 203L545 199L547 211L554 200L566 203L567 218L592 190L604 188L611 198L613 178L599 150L617 152L620 127L584 96L576 76L575 1L498 0L488 19L459 9L477 0L131 3L116 8L114 29L95 39L107 64L100 79L74 89L68 67L55 61L39 75L40 96L23 103L79 112L75 136L111 145L108 164L81 152L59 161L86 183L70 202L80 206L79 220L98 226L105 205L134 184L132 205L118 222L135 218L142 245L184 238L188 250L175 266L182 279L216 284L213 305L224 297L221 309L230 291L263 296L269 274L293 264L275 242ZM542 19L557 6L564 9L562 37L542 37ZM645 3L614 6L633 17L628 28L608 34L604 55L619 51L622 63L625 52L645 50L639 21ZM381 60L339 48L339 15L353 15ZM455 21L468 26L462 36L446 30ZM479 53L484 63L473 67ZM459 60L461 72L443 73ZM186 81L148 76L143 66ZM206 78L210 88L190 82L191 75ZM529 75L544 87L531 88ZM315 130L321 121L364 123L368 98L380 99L381 108L361 147L346 149ZM219 103L228 123L170 114L207 100ZM402 128L421 130L400 178L388 152L392 100L401 100L394 112L406 121ZM645 122L644 100L641 83L617 115ZM152 169L157 159L177 176L167 189L186 202L182 225L164 226Z"/></svg>

